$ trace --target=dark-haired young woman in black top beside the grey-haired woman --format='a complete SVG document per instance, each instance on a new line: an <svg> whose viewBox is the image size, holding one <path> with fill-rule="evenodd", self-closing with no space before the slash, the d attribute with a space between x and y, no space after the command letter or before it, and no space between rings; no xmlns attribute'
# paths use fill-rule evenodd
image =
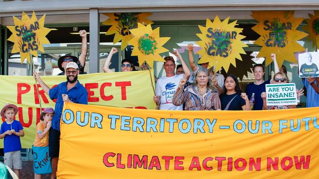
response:
<svg viewBox="0 0 319 179"><path fill-rule="evenodd" d="M224 83L223 93L219 96L221 110L240 111L251 110L246 93L241 93L239 82L235 75L229 74Z"/></svg>

